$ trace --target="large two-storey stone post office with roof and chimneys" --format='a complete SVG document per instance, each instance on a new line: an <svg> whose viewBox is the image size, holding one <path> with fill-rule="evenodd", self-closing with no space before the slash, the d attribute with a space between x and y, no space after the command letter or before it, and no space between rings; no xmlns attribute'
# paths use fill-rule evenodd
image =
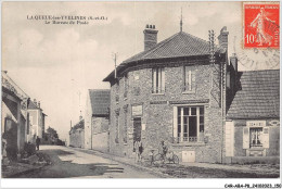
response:
<svg viewBox="0 0 282 189"><path fill-rule="evenodd" d="M146 155L164 140L182 162L222 162L227 28L218 47L182 29L158 43L155 26L143 33L144 51L103 80L111 84L110 152L132 158L142 140Z"/></svg>

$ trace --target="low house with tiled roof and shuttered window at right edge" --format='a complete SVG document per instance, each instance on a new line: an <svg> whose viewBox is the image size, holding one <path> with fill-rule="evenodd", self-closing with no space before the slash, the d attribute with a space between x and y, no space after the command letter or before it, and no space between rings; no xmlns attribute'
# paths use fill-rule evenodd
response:
<svg viewBox="0 0 282 189"><path fill-rule="evenodd" d="M226 122L227 159L233 163L259 160L279 163L280 71L233 71L230 74L233 85L228 86L232 102L228 104Z"/></svg>

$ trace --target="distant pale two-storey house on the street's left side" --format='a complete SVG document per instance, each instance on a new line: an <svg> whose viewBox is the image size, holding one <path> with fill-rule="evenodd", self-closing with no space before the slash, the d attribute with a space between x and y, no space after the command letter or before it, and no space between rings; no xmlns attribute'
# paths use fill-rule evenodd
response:
<svg viewBox="0 0 282 189"><path fill-rule="evenodd" d="M40 101L30 101L27 108L29 113L29 133L28 133L28 141L33 141L37 136L42 138L44 133L44 119L46 114L43 113L42 109L40 108Z"/></svg>

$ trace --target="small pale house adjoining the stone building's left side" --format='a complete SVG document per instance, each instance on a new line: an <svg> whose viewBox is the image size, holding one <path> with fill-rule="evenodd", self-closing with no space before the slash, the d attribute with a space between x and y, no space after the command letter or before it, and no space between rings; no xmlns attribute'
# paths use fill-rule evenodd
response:
<svg viewBox="0 0 282 189"><path fill-rule="evenodd" d="M108 151L110 90L89 89L85 115L85 148Z"/></svg>

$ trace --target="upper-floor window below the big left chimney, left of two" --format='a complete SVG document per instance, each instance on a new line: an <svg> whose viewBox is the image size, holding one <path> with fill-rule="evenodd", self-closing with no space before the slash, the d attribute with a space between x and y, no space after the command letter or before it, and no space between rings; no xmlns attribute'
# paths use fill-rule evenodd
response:
<svg viewBox="0 0 282 189"><path fill-rule="evenodd" d="M165 70L163 67L153 68L153 86L152 93L165 92Z"/></svg>

